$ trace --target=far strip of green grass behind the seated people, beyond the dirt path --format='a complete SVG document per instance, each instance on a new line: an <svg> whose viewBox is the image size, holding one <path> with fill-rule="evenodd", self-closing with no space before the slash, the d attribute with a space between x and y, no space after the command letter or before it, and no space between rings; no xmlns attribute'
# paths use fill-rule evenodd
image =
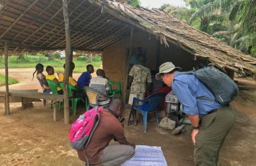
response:
<svg viewBox="0 0 256 166"><path fill-rule="evenodd" d="M85 59L78 59L73 61L76 65L74 72L84 72L86 71L86 66L88 64L92 64L94 66L94 70L96 71L99 68L102 68L102 61L100 56L93 56L92 62L88 63ZM53 59L48 60L48 57L36 55L23 55L23 56L11 56L8 57L8 68L35 68L35 65L38 63L42 63L44 65L44 69L46 66L53 66L54 71L63 72L63 65L65 63L64 59ZM0 68L5 68L5 59L0 59Z"/></svg>

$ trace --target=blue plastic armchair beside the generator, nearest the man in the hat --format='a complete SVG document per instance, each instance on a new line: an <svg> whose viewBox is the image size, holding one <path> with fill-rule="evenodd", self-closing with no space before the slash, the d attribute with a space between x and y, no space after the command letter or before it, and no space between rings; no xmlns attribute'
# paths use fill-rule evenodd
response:
<svg viewBox="0 0 256 166"><path fill-rule="evenodd" d="M130 125L130 118L134 110L137 110L140 114L142 114L143 118L143 131L144 133L147 132L147 121L148 121L148 113L156 113L156 119L157 119L157 127L159 127L159 121L158 121L158 105L162 101L162 98L165 96L164 93L155 93L147 98L140 100L136 97L133 98L133 103L128 119L128 126ZM142 102L142 105L137 105L137 102Z"/></svg>

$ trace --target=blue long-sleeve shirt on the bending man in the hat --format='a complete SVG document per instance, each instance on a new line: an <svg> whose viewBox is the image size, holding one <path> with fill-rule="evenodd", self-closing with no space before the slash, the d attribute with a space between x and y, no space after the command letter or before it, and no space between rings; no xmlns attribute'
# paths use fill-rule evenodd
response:
<svg viewBox="0 0 256 166"><path fill-rule="evenodd" d="M189 115L199 114L199 118L202 118L208 112L221 107L218 102L197 99L198 97L214 99L214 96L195 74L177 75L178 73L180 72L174 74L171 88L182 104L184 113Z"/></svg>

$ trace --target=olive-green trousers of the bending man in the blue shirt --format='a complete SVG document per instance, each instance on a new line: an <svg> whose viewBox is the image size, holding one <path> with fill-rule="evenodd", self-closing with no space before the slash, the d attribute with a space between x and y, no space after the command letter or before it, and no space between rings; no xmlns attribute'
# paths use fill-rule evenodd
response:
<svg viewBox="0 0 256 166"><path fill-rule="evenodd" d="M194 149L195 165L217 165L220 148L234 121L234 112L227 108L202 118Z"/></svg>

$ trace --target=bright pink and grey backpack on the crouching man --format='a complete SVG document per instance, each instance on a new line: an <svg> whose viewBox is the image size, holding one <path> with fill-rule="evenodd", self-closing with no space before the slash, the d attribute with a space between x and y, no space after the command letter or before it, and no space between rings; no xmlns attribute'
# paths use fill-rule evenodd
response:
<svg viewBox="0 0 256 166"><path fill-rule="evenodd" d="M93 132L98 126L99 112L102 109L102 107L95 107L86 111L71 125L69 141L72 148L82 150L87 147Z"/></svg>

